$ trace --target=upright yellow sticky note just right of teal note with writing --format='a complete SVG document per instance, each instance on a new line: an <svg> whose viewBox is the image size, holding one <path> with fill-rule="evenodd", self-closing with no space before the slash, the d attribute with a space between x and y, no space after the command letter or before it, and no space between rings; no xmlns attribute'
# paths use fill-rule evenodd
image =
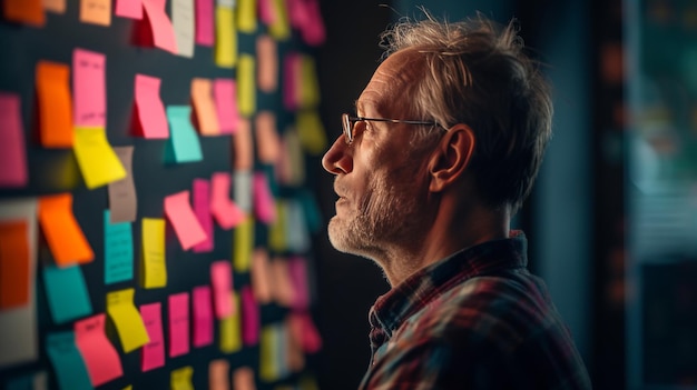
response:
<svg viewBox="0 0 697 390"><path fill-rule="evenodd" d="M165 261L165 220L144 218L143 230L143 287L154 289L167 286Z"/></svg>

